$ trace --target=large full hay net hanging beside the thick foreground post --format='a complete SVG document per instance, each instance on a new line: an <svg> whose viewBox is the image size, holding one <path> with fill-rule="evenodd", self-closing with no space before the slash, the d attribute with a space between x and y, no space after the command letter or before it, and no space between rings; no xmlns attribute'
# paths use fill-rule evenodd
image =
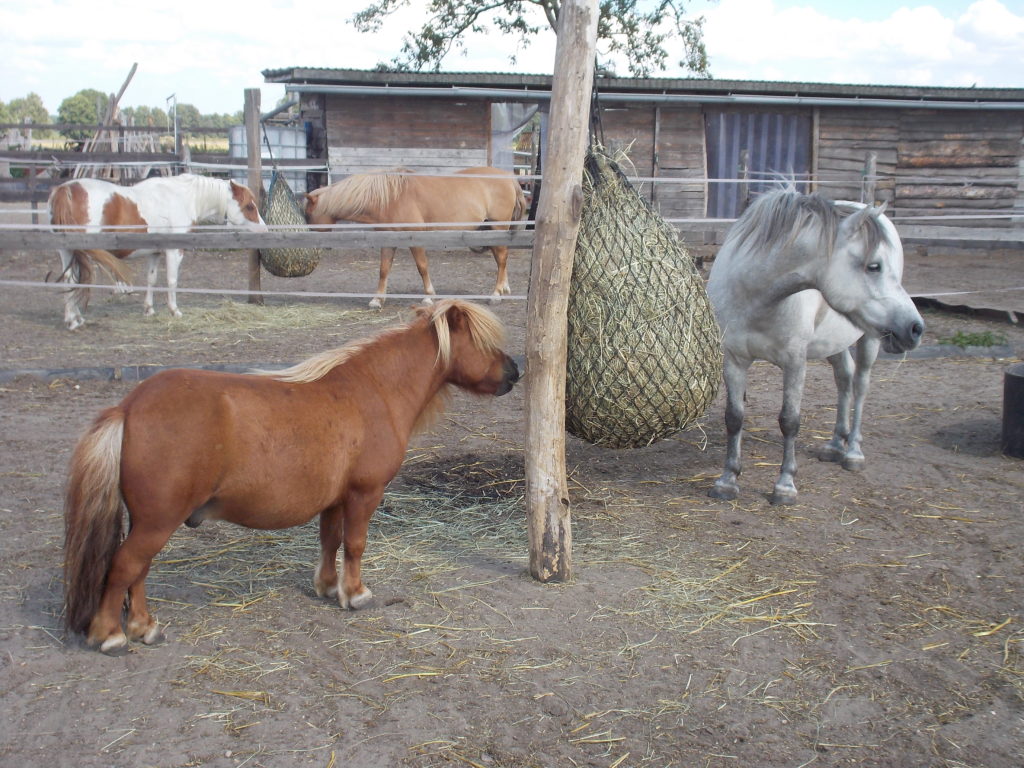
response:
<svg viewBox="0 0 1024 768"><path fill-rule="evenodd" d="M589 153L569 287L566 429L606 447L685 429L718 393L720 340L675 227L602 151Z"/></svg>

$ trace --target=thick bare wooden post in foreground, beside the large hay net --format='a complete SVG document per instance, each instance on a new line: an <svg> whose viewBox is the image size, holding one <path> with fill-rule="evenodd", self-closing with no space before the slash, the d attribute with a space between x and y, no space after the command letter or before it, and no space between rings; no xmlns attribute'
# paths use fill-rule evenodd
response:
<svg viewBox="0 0 1024 768"><path fill-rule="evenodd" d="M534 268L526 306L526 514L529 571L542 582L571 575L565 479L566 310L583 206L583 161L597 47L597 0L565 0L544 147Z"/></svg>

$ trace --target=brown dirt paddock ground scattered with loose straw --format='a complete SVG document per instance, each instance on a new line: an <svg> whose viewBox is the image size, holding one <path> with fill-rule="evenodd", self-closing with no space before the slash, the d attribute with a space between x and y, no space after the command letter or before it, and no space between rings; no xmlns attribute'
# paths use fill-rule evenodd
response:
<svg viewBox="0 0 1024 768"><path fill-rule="evenodd" d="M50 254L0 254L40 281ZM494 264L432 254L438 291ZM141 278L140 265L136 267ZM525 294L524 253L512 258ZM358 291L376 256L335 252L279 291ZM1015 275L1019 280L1019 275ZM244 257L195 254L185 288L241 289ZM419 279L399 255L395 293ZM74 441L132 366L271 365L402 321L365 299L184 294L185 316L96 292L82 330L52 291L0 286L0 764L108 766L943 766L1024 764L1024 472L999 452L1004 372L1024 330L926 312L935 357L883 360L867 467L818 462L835 414L811 364L800 502L768 504L780 377L758 365L742 493L707 493L722 396L646 449L570 438L573 579L526 572L523 388L458 396L419 435L371 525L375 598L315 597L315 525L182 528L148 579L168 641L123 657L60 630L61 489ZM523 353L525 305L497 311ZM989 333L961 353L941 338ZM994 356L993 356L994 355ZM527 372L528 375L528 372Z"/></svg>

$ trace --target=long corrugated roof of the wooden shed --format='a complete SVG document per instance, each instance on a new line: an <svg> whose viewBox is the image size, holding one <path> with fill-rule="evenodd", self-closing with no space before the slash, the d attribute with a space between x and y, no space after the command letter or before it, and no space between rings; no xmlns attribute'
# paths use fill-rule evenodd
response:
<svg viewBox="0 0 1024 768"><path fill-rule="evenodd" d="M495 72L384 72L289 67L263 70L267 83L365 85L404 87L486 87L550 90L550 75ZM1024 101L1024 88L950 88L909 85L857 85L799 83L760 80L715 80L706 78L598 77L599 91L621 93L753 94L771 96L823 96L837 98L899 98L943 101Z"/></svg>

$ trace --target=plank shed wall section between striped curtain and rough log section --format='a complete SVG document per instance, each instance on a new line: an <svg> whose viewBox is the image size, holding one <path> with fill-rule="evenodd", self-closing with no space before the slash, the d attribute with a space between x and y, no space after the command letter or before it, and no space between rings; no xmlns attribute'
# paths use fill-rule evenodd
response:
<svg viewBox="0 0 1024 768"><path fill-rule="evenodd" d="M818 114L817 191L831 200L859 201L864 163L876 153L877 201L892 205L899 113L895 110L821 109Z"/></svg>

